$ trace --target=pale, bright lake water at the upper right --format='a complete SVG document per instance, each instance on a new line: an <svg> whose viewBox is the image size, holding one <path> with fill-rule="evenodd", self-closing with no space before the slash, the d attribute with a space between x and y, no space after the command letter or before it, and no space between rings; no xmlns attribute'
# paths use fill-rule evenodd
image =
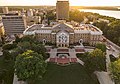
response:
<svg viewBox="0 0 120 84"><path fill-rule="evenodd" d="M98 13L100 15L104 16L110 16L117 19L120 19L120 11L112 11L112 10L97 10L97 9L79 9L80 11L84 12L92 12L92 13Z"/></svg>

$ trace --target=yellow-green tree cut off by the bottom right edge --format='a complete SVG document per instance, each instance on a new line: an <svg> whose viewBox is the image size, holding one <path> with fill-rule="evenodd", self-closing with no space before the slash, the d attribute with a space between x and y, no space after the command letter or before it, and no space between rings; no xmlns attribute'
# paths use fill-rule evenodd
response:
<svg viewBox="0 0 120 84"><path fill-rule="evenodd" d="M109 66L111 76L115 80L116 84L120 84L120 59L112 62Z"/></svg>

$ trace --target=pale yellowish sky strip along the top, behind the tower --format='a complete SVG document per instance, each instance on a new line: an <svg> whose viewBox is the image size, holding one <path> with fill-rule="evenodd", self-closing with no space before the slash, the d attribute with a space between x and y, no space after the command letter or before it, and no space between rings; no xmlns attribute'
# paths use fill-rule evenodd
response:
<svg viewBox="0 0 120 84"><path fill-rule="evenodd" d="M56 5L57 0L0 0L0 6ZM120 0L69 0L71 6L120 6Z"/></svg>

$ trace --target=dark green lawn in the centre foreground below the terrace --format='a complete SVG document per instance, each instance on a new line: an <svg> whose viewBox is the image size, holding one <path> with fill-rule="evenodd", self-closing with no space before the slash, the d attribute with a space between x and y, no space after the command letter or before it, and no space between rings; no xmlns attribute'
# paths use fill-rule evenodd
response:
<svg viewBox="0 0 120 84"><path fill-rule="evenodd" d="M80 64L59 66L48 64L47 72L36 84L98 84Z"/></svg>

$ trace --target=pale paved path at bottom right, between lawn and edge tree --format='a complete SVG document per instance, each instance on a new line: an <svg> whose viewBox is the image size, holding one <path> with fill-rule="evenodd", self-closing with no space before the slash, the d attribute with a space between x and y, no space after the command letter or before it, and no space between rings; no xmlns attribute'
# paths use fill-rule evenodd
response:
<svg viewBox="0 0 120 84"><path fill-rule="evenodd" d="M97 78L100 82L100 84L115 84L109 74L107 72L98 72L96 71L95 74L97 75Z"/></svg>

